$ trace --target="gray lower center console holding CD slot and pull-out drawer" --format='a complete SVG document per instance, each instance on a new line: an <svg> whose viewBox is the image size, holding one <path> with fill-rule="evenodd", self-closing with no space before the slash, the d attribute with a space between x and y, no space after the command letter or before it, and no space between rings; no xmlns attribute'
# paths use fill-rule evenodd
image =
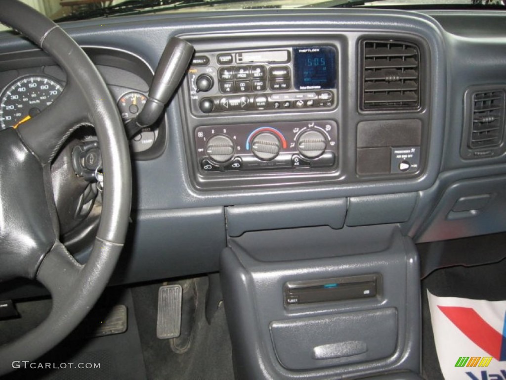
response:
<svg viewBox="0 0 506 380"><path fill-rule="evenodd" d="M229 238L220 277L241 380L362 378L420 368L420 278L395 225Z"/></svg>

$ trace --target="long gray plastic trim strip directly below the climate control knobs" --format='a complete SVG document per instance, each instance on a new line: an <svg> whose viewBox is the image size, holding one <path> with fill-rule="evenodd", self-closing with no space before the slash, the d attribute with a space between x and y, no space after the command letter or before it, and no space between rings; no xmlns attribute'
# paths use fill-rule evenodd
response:
<svg viewBox="0 0 506 380"><path fill-rule="evenodd" d="M267 203L226 208L227 233L328 225L340 229L346 216L346 199Z"/></svg>

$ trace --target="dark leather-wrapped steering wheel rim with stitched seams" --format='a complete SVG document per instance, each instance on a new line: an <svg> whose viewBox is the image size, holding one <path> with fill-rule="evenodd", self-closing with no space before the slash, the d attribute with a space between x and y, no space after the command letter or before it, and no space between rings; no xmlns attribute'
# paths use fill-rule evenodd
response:
<svg viewBox="0 0 506 380"><path fill-rule="evenodd" d="M67 86L72 87L74 93L80 93L80 99L88 110L82 117L83 121L95 127L104 169L102 216L92 253L85 265L78 264L58 241L54 215L48 219L53 220L54 241L50 249L40 255L33 273L25 277L36 278L49 289L53 296L53 308L39 326L0 347L2 375L13 369L13 361L33 361L56 346L97 301L112 274L125 240L132 198L132 174L128 142L116 104L95 65L77 43L57 24L17 0L3 1L0 22L27 36L66 72ZM69 90L68 93L72 92ZM59 98L65 96L64 90ZM48 121L58 123L58 115L52 115L49 111L51 107L39 116L48 115ZM39 120L43 121L44 118ZM33 134L33 127L20 127L15 131L20 144L28 147L40 162L41 172L47 170L56 151L73 130L70 128L58 136L52 132L51 126L45 126L48 127L47 131L41 132L44 138ZM13 136L15 132L0 134L0 139L3 135ZM48 193L52 195L50 191ZM7 201L2 199L2 205ZM52 210L54 214L51 201L48 202L50 214Z"/></svg>

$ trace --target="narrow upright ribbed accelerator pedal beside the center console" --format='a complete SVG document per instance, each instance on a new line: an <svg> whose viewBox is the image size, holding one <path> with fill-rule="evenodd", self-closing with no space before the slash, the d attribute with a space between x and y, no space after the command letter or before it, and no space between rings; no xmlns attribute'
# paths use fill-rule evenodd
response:
<svg viewBox="0 0 506 380"><path fill-rule="evenodd" d="M158 289L158 316L156 318L158 339L176 338L181 334L182 299L181 285L165 285Z"/></svg>

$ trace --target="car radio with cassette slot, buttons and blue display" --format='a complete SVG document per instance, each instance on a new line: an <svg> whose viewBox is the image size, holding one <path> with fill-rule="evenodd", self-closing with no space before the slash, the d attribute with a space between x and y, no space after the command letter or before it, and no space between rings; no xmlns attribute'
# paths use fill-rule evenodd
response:
<svg viewBox="0 0 506 380"><path fill-rule="evenodd" d="M336 60L332 46L198 53L188 75L192 113L335 107Z"/></svg>

